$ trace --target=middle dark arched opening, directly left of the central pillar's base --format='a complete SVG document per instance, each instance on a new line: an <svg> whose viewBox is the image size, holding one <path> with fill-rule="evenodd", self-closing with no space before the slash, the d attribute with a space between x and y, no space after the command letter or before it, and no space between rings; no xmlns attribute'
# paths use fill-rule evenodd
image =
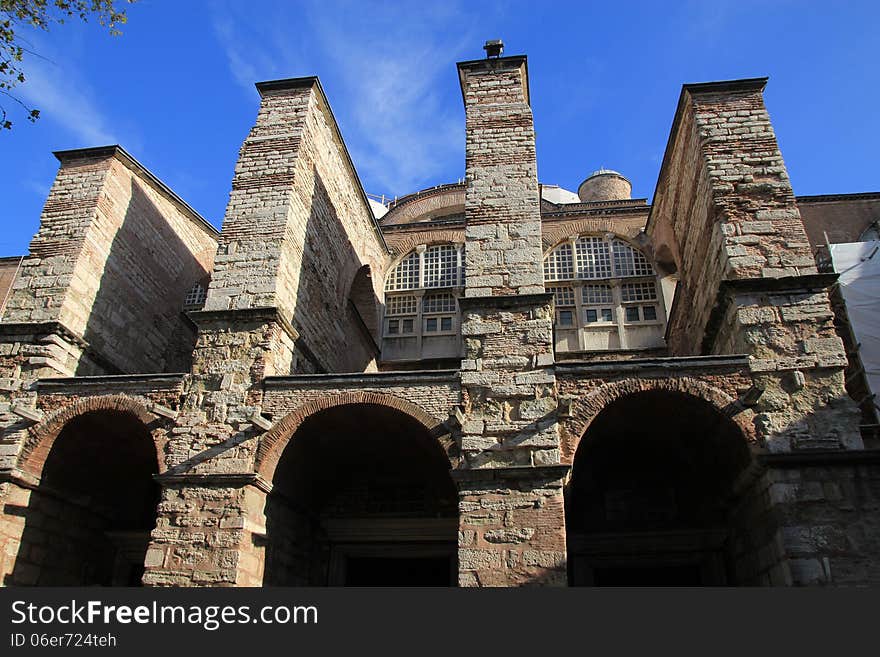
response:
<svg viewBox="0 0 880 657"><path fill-rule="evenodd" d="M267 586L450 586L458 495L424 425L378 404L319 411L266 500Z"/></svg>

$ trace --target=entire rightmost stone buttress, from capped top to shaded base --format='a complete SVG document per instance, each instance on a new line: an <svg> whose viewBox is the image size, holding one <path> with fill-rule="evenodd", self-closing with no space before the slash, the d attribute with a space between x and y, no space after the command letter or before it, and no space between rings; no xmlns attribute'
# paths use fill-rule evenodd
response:
<svg viewBox="0 0 880 657"><path fill-rule="evenodd" d="M849 514L870 498L858 464L871 455L844 388L828 296L836 275L817 273L765 84L685 85L647 231L680 277L671 355L749 356L753 384L740 403L769 453L758 461L779 549L792 583L827 583L836 569L846 578L864 567L866 530Z"/></svg>

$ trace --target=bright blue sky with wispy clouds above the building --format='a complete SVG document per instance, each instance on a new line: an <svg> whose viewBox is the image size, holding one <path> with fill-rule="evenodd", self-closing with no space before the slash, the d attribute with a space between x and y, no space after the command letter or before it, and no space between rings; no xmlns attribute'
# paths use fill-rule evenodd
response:
<svg viewBox="0 0 880 657"><path fill-rule="evenodd" d="M59 149L119 143L219 227L259 80L321 78L367 192L455 181L455 62L493 38L529 57L542 182L574 190L605 166L650 200L681 85L766 75L795 193L880 191L877 2L140 0L128 15L119 37L26 35L40 58L18 93L42 118L0 133L0 255L27 251Z"/></svg>

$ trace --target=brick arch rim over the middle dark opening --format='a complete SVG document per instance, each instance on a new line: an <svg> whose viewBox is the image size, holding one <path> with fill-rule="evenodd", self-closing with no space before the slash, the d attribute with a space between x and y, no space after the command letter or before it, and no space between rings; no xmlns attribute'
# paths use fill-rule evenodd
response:
<svg viewBox="0 0 880 657"><path fill-rule="evenodd" d="M437 438L438 449L443 450L448 456L451 441L440 440L441 436L449 433L449 431L443 427L443 421L431 416L419 406L416 406L405 399L384 393L358 391L348 392L341 395L319 397L318 399L306 402L295 411L285 415L275 424L275 426L266 432L260 440L254 464L256 473L265 481L272 481L275 474L275 468L278 466L278 461L281 458L284 449L290 443L296 430L299 429L300 425L302 425L306 419L315 413L329 408L353 404L385 406L405 413L424 426L432 436Z"/></svg>

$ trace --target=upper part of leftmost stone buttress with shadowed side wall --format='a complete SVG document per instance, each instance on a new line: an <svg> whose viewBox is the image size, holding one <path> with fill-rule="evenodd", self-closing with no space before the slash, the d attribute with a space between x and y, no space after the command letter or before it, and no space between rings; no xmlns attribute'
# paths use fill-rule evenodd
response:
<svg viewBox="0 0 880 657"><path fill-rule="evenodd" d="M149 373L169 363L187 291L210 271L214 232L118 149L59 154L61 169L5 322L56 320L99 371ZM93 373L90 363L79 373Z"/></svg>

